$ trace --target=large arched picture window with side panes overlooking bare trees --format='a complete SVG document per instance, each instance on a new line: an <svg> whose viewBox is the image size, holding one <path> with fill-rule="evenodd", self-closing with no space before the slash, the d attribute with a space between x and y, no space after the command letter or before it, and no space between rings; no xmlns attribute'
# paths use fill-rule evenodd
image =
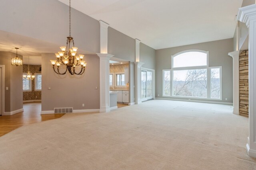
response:
<svg viewBox="0 0 256 170"><path fill-rule="evenodd" d="M183 51L163 70L163 96L221 100L221 66L208 66L207 51Z"/></svg>

